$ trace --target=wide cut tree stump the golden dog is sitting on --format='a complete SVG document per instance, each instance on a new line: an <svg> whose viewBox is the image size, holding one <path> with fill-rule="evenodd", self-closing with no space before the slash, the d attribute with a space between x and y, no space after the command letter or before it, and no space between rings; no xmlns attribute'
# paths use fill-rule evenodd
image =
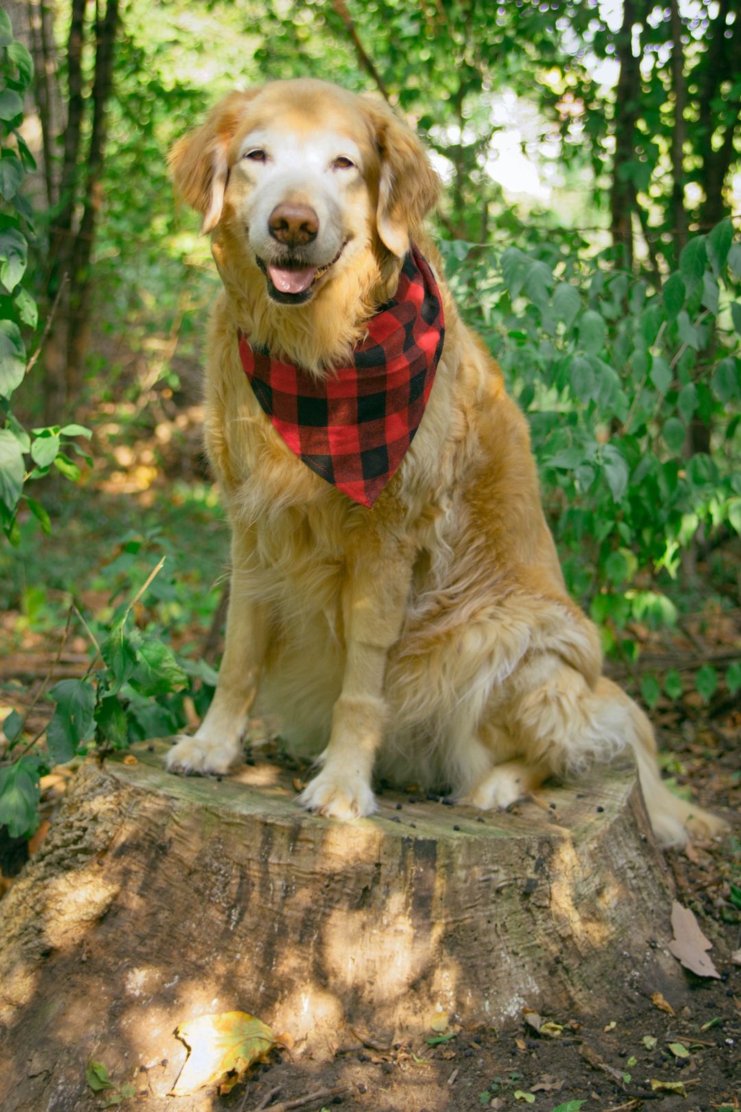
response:
<svg viewBox="0 0 741 1112"><path fill-rule="evenodd" d="M166 748L89 761L0 904L4 1112L86 1108L91 1059L167 1059L148 1108L173 1108L172 1032L203 1013L331 1049L349 1025L619 1014L683 984L630 754L513 813L385 791L342 823L299 810L277 757L183 778Z"/></svg>

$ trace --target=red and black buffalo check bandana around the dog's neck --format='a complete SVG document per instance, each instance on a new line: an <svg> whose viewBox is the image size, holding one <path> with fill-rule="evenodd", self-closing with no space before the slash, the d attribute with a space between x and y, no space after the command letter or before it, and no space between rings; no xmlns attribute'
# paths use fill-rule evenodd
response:
<svg viewBox="0 0 741 1112"><path fill-rule="evenodd" d="M399 287L368 321L350 367L318 379L253 348L239 354L260 406L312 471L371 507L407 453L424 415L444 339L440 290L412 245Z"/></svg>

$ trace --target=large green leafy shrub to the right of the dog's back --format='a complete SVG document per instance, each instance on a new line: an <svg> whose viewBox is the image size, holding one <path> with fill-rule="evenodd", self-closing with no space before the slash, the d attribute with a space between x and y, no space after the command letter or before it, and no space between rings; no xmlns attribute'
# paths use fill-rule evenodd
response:
<svg viewBox="0 0 741 1112"><path fill-rule="evenodd" d="M528 415L544 499L571 592L605 651L677 620L682 560L711 534L741 532L741 244L730 220L684 247L661 288L549 245L445 246L459 302L487 337ZM712 427L712 450L693 445ZM687 594L687 584L683 584ZM720 675L700 668L709 701ZM739 664L728 668L738 689ZM667 693L681 694L678 674ZM661 688L644 676L651 706Z"/></svg>

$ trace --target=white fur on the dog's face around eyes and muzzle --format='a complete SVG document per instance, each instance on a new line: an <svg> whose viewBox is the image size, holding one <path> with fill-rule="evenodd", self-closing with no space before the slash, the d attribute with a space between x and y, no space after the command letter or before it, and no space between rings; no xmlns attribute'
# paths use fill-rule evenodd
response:
<svg viewBox="0 0 741 1112"><path fill-rule="evenodd" d="M264 160L250 158L263 151ZM348 159L350 167L338 166ZM284 258L287 248L270 235L268 221L277 205L309 205L319 218L317 238L291 250L308 266L322 267L331 262L350 237L357 219L356 210L362 185L360 150L346 135L318 132L297 135L288 128L260 127L246 136L239 158L232 167L236 182L249 192L239 207L239 216L248 228L250 247L264 261Z"/></svg>

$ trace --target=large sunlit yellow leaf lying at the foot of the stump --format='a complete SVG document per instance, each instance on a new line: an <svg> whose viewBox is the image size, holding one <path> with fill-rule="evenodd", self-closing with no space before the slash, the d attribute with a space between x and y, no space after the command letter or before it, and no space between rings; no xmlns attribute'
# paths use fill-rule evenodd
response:
<svg viewBox="0 0 741 1112"><path fill-rule="evenodd" d="M181 1023L176 1037L190 1053L171 1096L184 1096L216 1082L221 1093L228 1093L276 1043L270 1027L247 1012L199 1015Z"/></svg>

